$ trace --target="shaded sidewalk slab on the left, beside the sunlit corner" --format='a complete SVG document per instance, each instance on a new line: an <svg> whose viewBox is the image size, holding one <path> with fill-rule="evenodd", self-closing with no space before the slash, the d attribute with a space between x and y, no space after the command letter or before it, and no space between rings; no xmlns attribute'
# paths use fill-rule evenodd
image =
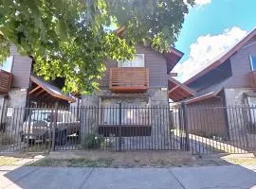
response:
<svg viewBox="0 0 256 189"><path fill-rule="evenodd" d="M33 167L31 167L33 168ZM70 189L81 188L84 180L92 172L92 168L76 168L76 167L41 167L36 171L27 175L20 180L16 180L14 185L10 188L17 188L19 186L23 189ZM16 175L16 169L5 175L11 180L13 175Z"/></svg>

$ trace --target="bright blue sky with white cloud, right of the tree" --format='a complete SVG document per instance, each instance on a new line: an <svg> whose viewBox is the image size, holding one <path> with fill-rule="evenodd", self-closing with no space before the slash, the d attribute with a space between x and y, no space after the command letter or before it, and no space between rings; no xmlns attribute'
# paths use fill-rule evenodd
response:
<svg viewBox="0 0 256 189"><path fill-rule="evenodd" d="M175 43L175 47L185 53L180 64L185 62L189 65L188 61L195 63L197 58L194 58L193 51L207 52L206 54L210 54L212 58L241 40L247 31L256 26L256 0L196 0L196 3L197 5L186 15L178 41ZM218 40L221 44L217 43ZM208 51L204 49L204 45ZM209 49L215 50L211 52ZM194 71L198 72L206 67L206 61L209 62L210 58L199 59L199 64L202 65ZM186 76L185 71L180 70L180 65L176 67L180 72L178 78L181 81L192 77L192 74Z"/></svg>

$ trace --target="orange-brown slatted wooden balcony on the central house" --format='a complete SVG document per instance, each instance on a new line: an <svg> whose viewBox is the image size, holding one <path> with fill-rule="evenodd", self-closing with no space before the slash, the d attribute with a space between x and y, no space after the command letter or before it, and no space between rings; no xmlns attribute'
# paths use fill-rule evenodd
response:
<svg viewBox="0 0 256 189"><path fill-rule="evenodd" d="M146 92L149 88L149 69L141 67L111 68L109 88L117 93Z"/></svg>

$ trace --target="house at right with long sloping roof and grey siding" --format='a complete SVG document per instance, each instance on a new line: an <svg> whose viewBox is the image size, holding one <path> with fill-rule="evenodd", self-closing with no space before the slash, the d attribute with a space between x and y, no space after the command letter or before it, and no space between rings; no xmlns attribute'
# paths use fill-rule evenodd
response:
<svg viewBox="0 0 256 189"><path fill-rule="evenodd" d="M256 28L185 83L175 84L175 79L170 79L169 96L174 102L185 102L191 110L192 107L199 105L209 107L254 106L256 105L255 71ZM229 109L220 109L215 112L201 111L199 114L203 121L200 121L204 122L204 127L217 127L215 130L218 130L219 135L231 139L239 133L250 132L251 127L255 130L255 116L248 116L254 112L236 109L236 112L232 112L235 114L231 115L229 111ZM192 120L192 129L198 131L196 129L198 122L197 119ZM204 130L206 129L204 127L199 131L208 132Z"/></svg>

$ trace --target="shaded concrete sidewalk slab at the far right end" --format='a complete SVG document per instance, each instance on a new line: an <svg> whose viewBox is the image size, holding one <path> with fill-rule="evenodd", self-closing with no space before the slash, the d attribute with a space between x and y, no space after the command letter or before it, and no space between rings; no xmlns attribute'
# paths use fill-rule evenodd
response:
<svg viewBox="0 0 256 189"><path fill-rule="evenodd" d="M256 173L239 165L177 167L169 170L186 189L256 189Z"/></svg>

